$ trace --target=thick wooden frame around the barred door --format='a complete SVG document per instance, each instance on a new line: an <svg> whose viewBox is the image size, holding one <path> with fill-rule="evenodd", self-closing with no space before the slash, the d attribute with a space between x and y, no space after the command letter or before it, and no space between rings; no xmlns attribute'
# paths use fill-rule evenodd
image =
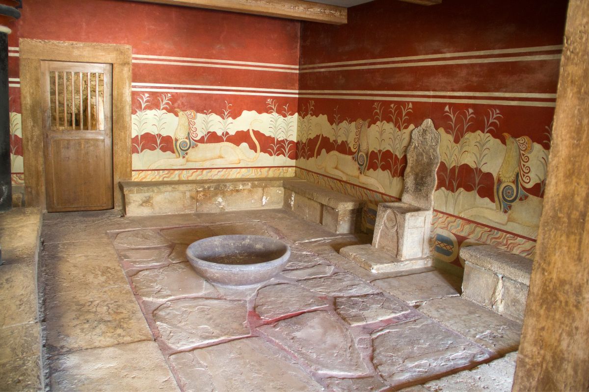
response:
<svg viewBox="0 0 589 392"><path fill-rule="evenodd" d="M41 108L41 61L112 64L112 192L123 206L118 183L131 179L131 46L19 39L25 205L45 209L45 162Z"/></svg>

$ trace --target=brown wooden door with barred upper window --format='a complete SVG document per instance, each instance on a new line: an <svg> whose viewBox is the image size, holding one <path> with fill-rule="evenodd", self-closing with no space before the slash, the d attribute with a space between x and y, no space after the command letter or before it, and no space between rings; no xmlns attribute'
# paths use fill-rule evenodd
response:
<svg viewBox="0 0 589 392"><path fill-rule="evenodd" d="M112 209L112 66L41 62L48 212Z"/></svg>

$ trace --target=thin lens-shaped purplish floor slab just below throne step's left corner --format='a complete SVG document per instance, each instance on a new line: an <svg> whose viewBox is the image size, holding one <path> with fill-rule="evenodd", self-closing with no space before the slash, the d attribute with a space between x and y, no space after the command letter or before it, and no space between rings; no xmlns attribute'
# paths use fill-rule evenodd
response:
<svg viewBox="0 0 589 392"><path fill-rule="evenodd" d="M347 272L336 273L327 277L299 280L299 283L308 290L332 297L355 297L380 292L380 290L370 286L364 280Z"/></svg>

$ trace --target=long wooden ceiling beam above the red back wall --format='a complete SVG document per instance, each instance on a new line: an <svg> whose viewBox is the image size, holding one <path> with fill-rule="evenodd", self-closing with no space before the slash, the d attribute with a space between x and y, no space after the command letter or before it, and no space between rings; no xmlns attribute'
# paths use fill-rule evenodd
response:
<svg viewBox="0 0 589 392"><path fill-rule="evenodd" d="M218 9L244 14L321 22L333 25L348 23L348 9L303 0L130 0L154 4L181 5Z"/></svg>

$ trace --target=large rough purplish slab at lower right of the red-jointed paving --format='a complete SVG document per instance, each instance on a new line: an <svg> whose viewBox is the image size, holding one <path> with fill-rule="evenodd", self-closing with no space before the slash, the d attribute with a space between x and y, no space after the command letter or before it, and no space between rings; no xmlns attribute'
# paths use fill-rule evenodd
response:
<svg viewBox="0 0 589 392"><path fill-rule="evenodd" d="M392 324L372 337L373 363L393 387L474 367L489 358L480 347L426 318Z"/></svg>

